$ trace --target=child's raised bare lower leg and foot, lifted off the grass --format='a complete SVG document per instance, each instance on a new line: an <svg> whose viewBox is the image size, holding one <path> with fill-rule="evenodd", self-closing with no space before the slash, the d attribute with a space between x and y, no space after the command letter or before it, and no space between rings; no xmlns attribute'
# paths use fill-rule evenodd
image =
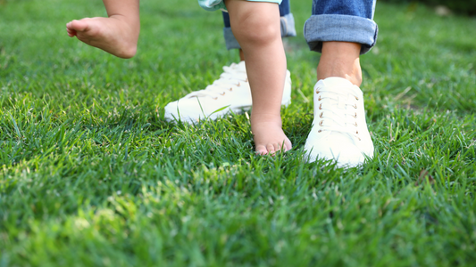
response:
<svg viewBox="0 0 476 267"><path fill-rule="evenodd" d="M85 18L66 24L69 36L77 36L120 58L136 54L140 22L138 0L103 0L108 18Z"/></svg>

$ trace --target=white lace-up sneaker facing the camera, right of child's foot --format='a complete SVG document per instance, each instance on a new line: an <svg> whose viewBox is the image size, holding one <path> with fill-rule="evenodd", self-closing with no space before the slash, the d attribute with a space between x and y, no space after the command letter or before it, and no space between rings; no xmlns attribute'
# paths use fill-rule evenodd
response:
<svg viewBox="0 0 476 267"><path fill-rule="evenodd" d="M314 86L313 129L305 142L306 159L335 159L338 167L362 164L373 157L365 123L363 93L345 78L329 77Z"/></svg>

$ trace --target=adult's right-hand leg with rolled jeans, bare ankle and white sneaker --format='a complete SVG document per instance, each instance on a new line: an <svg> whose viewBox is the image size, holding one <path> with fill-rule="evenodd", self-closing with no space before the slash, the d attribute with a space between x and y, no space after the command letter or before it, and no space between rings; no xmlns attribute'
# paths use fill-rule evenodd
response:
<svg viewBox="0 0 476 267"><path fill-rule="evenodd" d="M311 50L322 56L314 86L313 129L305 143L310 161L333 158L338 166L357 166L365 156L373 156L358 86L362 83L359 56L377 39L374 9L374 0L313 0L305 38Z"/></svg>

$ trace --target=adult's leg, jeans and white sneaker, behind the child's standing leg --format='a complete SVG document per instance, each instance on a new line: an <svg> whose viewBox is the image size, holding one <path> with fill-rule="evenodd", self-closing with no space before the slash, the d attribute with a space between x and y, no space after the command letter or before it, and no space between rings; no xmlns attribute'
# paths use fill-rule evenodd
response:
<svg viewBox="0 0 476 267"><path fill-rule="evenodd" d="M231 32L230 15L222 12L223 36L227 49L239 49L238 64L232 63L223 67L224 72L205 90L188 93L178 101L171 101L165 106L164 118L169 121L196 123L205 117L216 119L224 117L230 111L235 113L251 109L251 91L246 77L245 56L237 39ZM296 36L294 17L290 10L289 0L280 4L281 37ZM228 85L228 86L227 86ZM286 75L281 106L288 106L291 101L291 77ZM216 111L220 109L220 111Z"/></svg>

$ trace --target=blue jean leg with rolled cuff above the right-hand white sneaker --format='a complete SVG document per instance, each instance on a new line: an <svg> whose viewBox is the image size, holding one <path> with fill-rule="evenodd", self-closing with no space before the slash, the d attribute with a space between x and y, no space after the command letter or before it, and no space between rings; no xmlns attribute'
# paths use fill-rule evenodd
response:
<svg viewBox="0 0 476 267"><path fill-rule="evenodd" d="M313 0L313 15L305 21L309 48L322 52L322 42L341 41L362 44L361 54L369 52L379 33L373 21L376 0Z"/></svg>

